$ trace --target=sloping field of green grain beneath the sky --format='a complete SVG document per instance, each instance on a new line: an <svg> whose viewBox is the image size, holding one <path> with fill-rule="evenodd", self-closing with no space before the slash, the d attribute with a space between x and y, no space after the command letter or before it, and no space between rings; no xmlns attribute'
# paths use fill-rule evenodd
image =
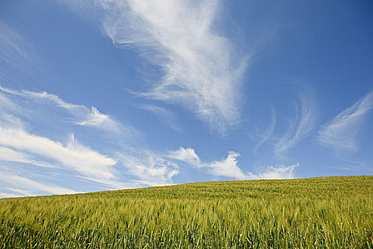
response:
<svg viewBox="0 0 373 249"><path fill-rule="evenodd" d="M373 176L6 198L0 248L373 248Z"/></svg>

